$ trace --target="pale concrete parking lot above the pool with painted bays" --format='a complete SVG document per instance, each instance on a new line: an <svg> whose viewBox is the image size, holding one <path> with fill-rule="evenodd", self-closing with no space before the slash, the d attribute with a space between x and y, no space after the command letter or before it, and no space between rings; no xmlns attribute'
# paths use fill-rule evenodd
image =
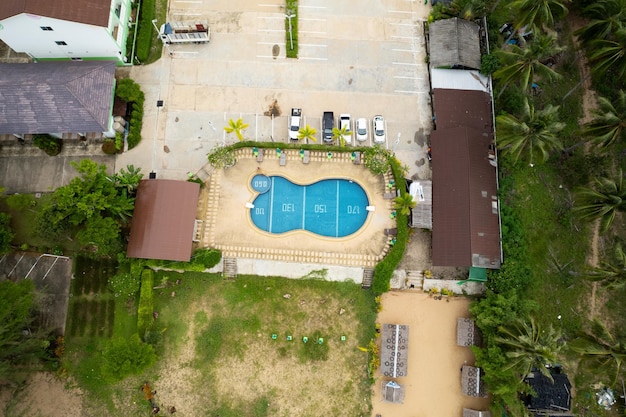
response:
<svg viewBox="0 0 626 417"><path fill-rule="evenodd" d="M284 2L172 0L168 19L207 20L211 42L171 45L158 62L132 69L146 94L143 139L118 157L117 169L134 163L160 178L185 178L215 146L237 140L224 133L228 120L248 123L247 139L286 142L290 110L299 107L318 143L324 111L349 113L353 123L366 118L368 144L372 117L384 116L383 146L410 176L428 178L428 12L421 1L304 0L299 58L287 59Z"/></svg>

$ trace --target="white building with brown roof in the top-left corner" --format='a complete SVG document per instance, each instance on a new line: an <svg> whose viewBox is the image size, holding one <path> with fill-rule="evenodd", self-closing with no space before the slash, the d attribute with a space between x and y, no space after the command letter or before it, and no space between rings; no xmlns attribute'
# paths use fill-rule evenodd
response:
<svg viewBox="0 0 626 417"><path fill-rule="evenodd" d="M0 1L0 39L35 60L106 59L123 64L132 0Z"/></svg>

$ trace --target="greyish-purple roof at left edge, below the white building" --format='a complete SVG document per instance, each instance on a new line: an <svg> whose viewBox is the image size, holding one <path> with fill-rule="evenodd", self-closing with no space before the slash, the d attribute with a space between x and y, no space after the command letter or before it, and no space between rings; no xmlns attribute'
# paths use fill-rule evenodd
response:
<svg viewBox="0 0 626 417"><path fill-rule="evenodd" d="M88 133L109 128L113 61L0 64L0 133Z"/></svg>

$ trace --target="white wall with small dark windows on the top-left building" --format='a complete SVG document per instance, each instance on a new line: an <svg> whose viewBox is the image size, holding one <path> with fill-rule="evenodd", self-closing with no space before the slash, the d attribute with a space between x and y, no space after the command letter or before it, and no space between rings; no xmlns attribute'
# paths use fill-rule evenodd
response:
<svg viewBox="0 0 626 417"><path fill-rule="evenodd" d="M16 52L33 58L116 58L123 60L121 48L106 27L68 22L49 17L20 14L0 22L2 39ZM51 27L45 31L41 27ZM121 29L121 28L120 28ZM57 45L63 41L67 45Z"/></svg>

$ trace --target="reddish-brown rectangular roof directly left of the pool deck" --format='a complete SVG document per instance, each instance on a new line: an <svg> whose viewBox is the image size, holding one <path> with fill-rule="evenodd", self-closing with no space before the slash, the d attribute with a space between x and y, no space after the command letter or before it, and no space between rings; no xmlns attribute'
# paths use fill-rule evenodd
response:
<svg viewBox="0 0 626 417"><path fill-rule="evenodd" d="M199 192L195 182L140 181L127 256L189 261Z"/></svg>

